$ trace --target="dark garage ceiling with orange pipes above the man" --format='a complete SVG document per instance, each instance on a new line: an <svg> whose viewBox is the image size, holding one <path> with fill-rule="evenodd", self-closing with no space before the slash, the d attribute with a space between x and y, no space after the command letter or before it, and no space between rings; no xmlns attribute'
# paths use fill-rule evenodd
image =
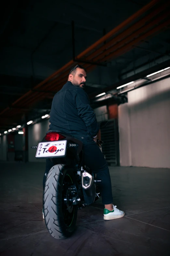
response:
<svg viewBox="0 0 170 256"><path fill-rule="evenodd" d="M115 84L130 76L128 73L156 68L169 60L169 1L153 0L140 15L124 22L149 3L147 0L6 2L0 27L0 133L49 113L52 97L67 80L70 66L85 63L70 62L73 27L75 56L103 36L106 39L80 58L98 63L85 63L89 96L107 87L114 89ZM107 33L114 28L109 36ZM67 63L70 64L61 71ZM56 71L55 76L45 80Z"/></svg>

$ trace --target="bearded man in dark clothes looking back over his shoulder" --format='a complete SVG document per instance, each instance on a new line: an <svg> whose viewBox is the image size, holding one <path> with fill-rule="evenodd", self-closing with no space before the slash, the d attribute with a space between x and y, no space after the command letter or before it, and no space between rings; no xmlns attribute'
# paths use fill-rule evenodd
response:
<svg viewBox="0 0 170 256"><path fill-rule="evenodd" d="M90 107L88 95L83 90L86 79L86 70L83 66L76 65L70 70L67 83L53 98L50 129L63 130L82 141L85 164L97 174L97 179L102 179L99 189L102 203L105 205L104 219L121 218L124 212L113 205L109 169L96 144L99 126L95 113ZM47 159L43 187L51 167L52 163Z"/></svg>

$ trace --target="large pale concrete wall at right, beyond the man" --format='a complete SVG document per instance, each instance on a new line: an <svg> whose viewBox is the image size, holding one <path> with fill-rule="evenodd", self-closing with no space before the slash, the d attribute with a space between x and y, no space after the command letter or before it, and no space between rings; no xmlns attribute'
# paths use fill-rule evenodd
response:
<svg viewBox="0 0 170 256"><path fill-rule="evenodd" d="M170 78L129 92L118 112L120 165L170 168Z"/></svg>

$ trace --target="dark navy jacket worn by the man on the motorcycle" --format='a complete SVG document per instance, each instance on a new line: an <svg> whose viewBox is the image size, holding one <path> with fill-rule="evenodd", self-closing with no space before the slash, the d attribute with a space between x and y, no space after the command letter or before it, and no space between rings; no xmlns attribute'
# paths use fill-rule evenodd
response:
<svg viewBox="0 0 170 256"><path fill-rule="evenodd" d="M63 130L73 135L94 137L99 131L88 95L69 81L53 98L50 123L50 129Z"/></svg>

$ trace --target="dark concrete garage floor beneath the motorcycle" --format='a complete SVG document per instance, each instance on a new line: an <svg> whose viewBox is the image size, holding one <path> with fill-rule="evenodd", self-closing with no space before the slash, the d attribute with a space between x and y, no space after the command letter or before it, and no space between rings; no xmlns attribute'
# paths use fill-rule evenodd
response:
<svg viewBox="0 0 170 256"><path fill-rule="evenodd" d="M2 163L0 255L170 255L170 169L110 167L114 204L103 220L99 199L78 211L77 230L56 240L42 218L44 163Z"/></svg>

